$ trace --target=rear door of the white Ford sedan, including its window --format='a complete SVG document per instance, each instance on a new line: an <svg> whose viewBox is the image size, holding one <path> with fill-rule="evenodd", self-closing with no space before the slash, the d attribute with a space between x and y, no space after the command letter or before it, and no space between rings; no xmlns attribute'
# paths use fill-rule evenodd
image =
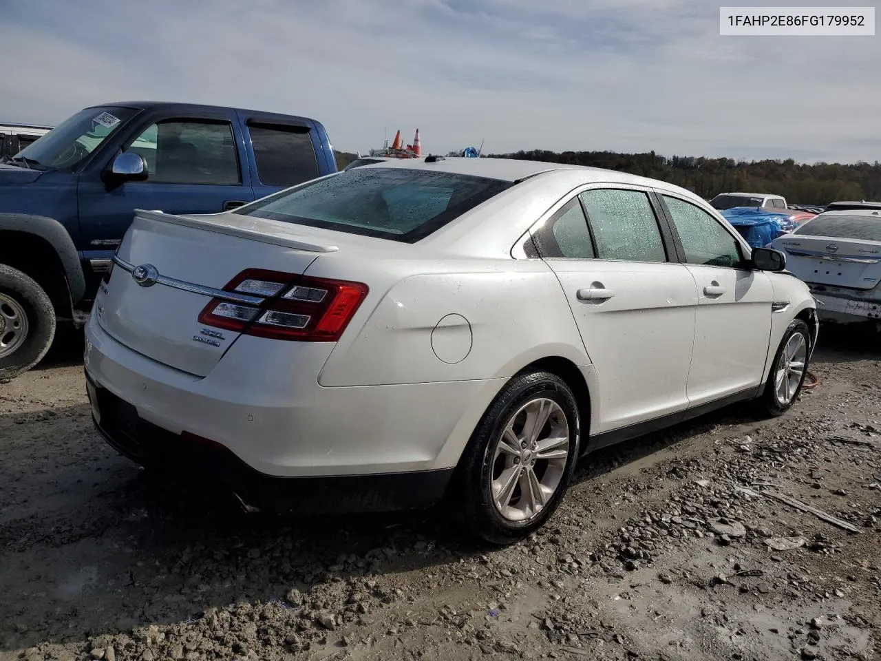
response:
<svg viewBox="0 0 881 661"><path fill-rule="evenodd" d="M591 434L684 412L698 295L649 191L586 189L533 240L596 370Z"/></svg>

